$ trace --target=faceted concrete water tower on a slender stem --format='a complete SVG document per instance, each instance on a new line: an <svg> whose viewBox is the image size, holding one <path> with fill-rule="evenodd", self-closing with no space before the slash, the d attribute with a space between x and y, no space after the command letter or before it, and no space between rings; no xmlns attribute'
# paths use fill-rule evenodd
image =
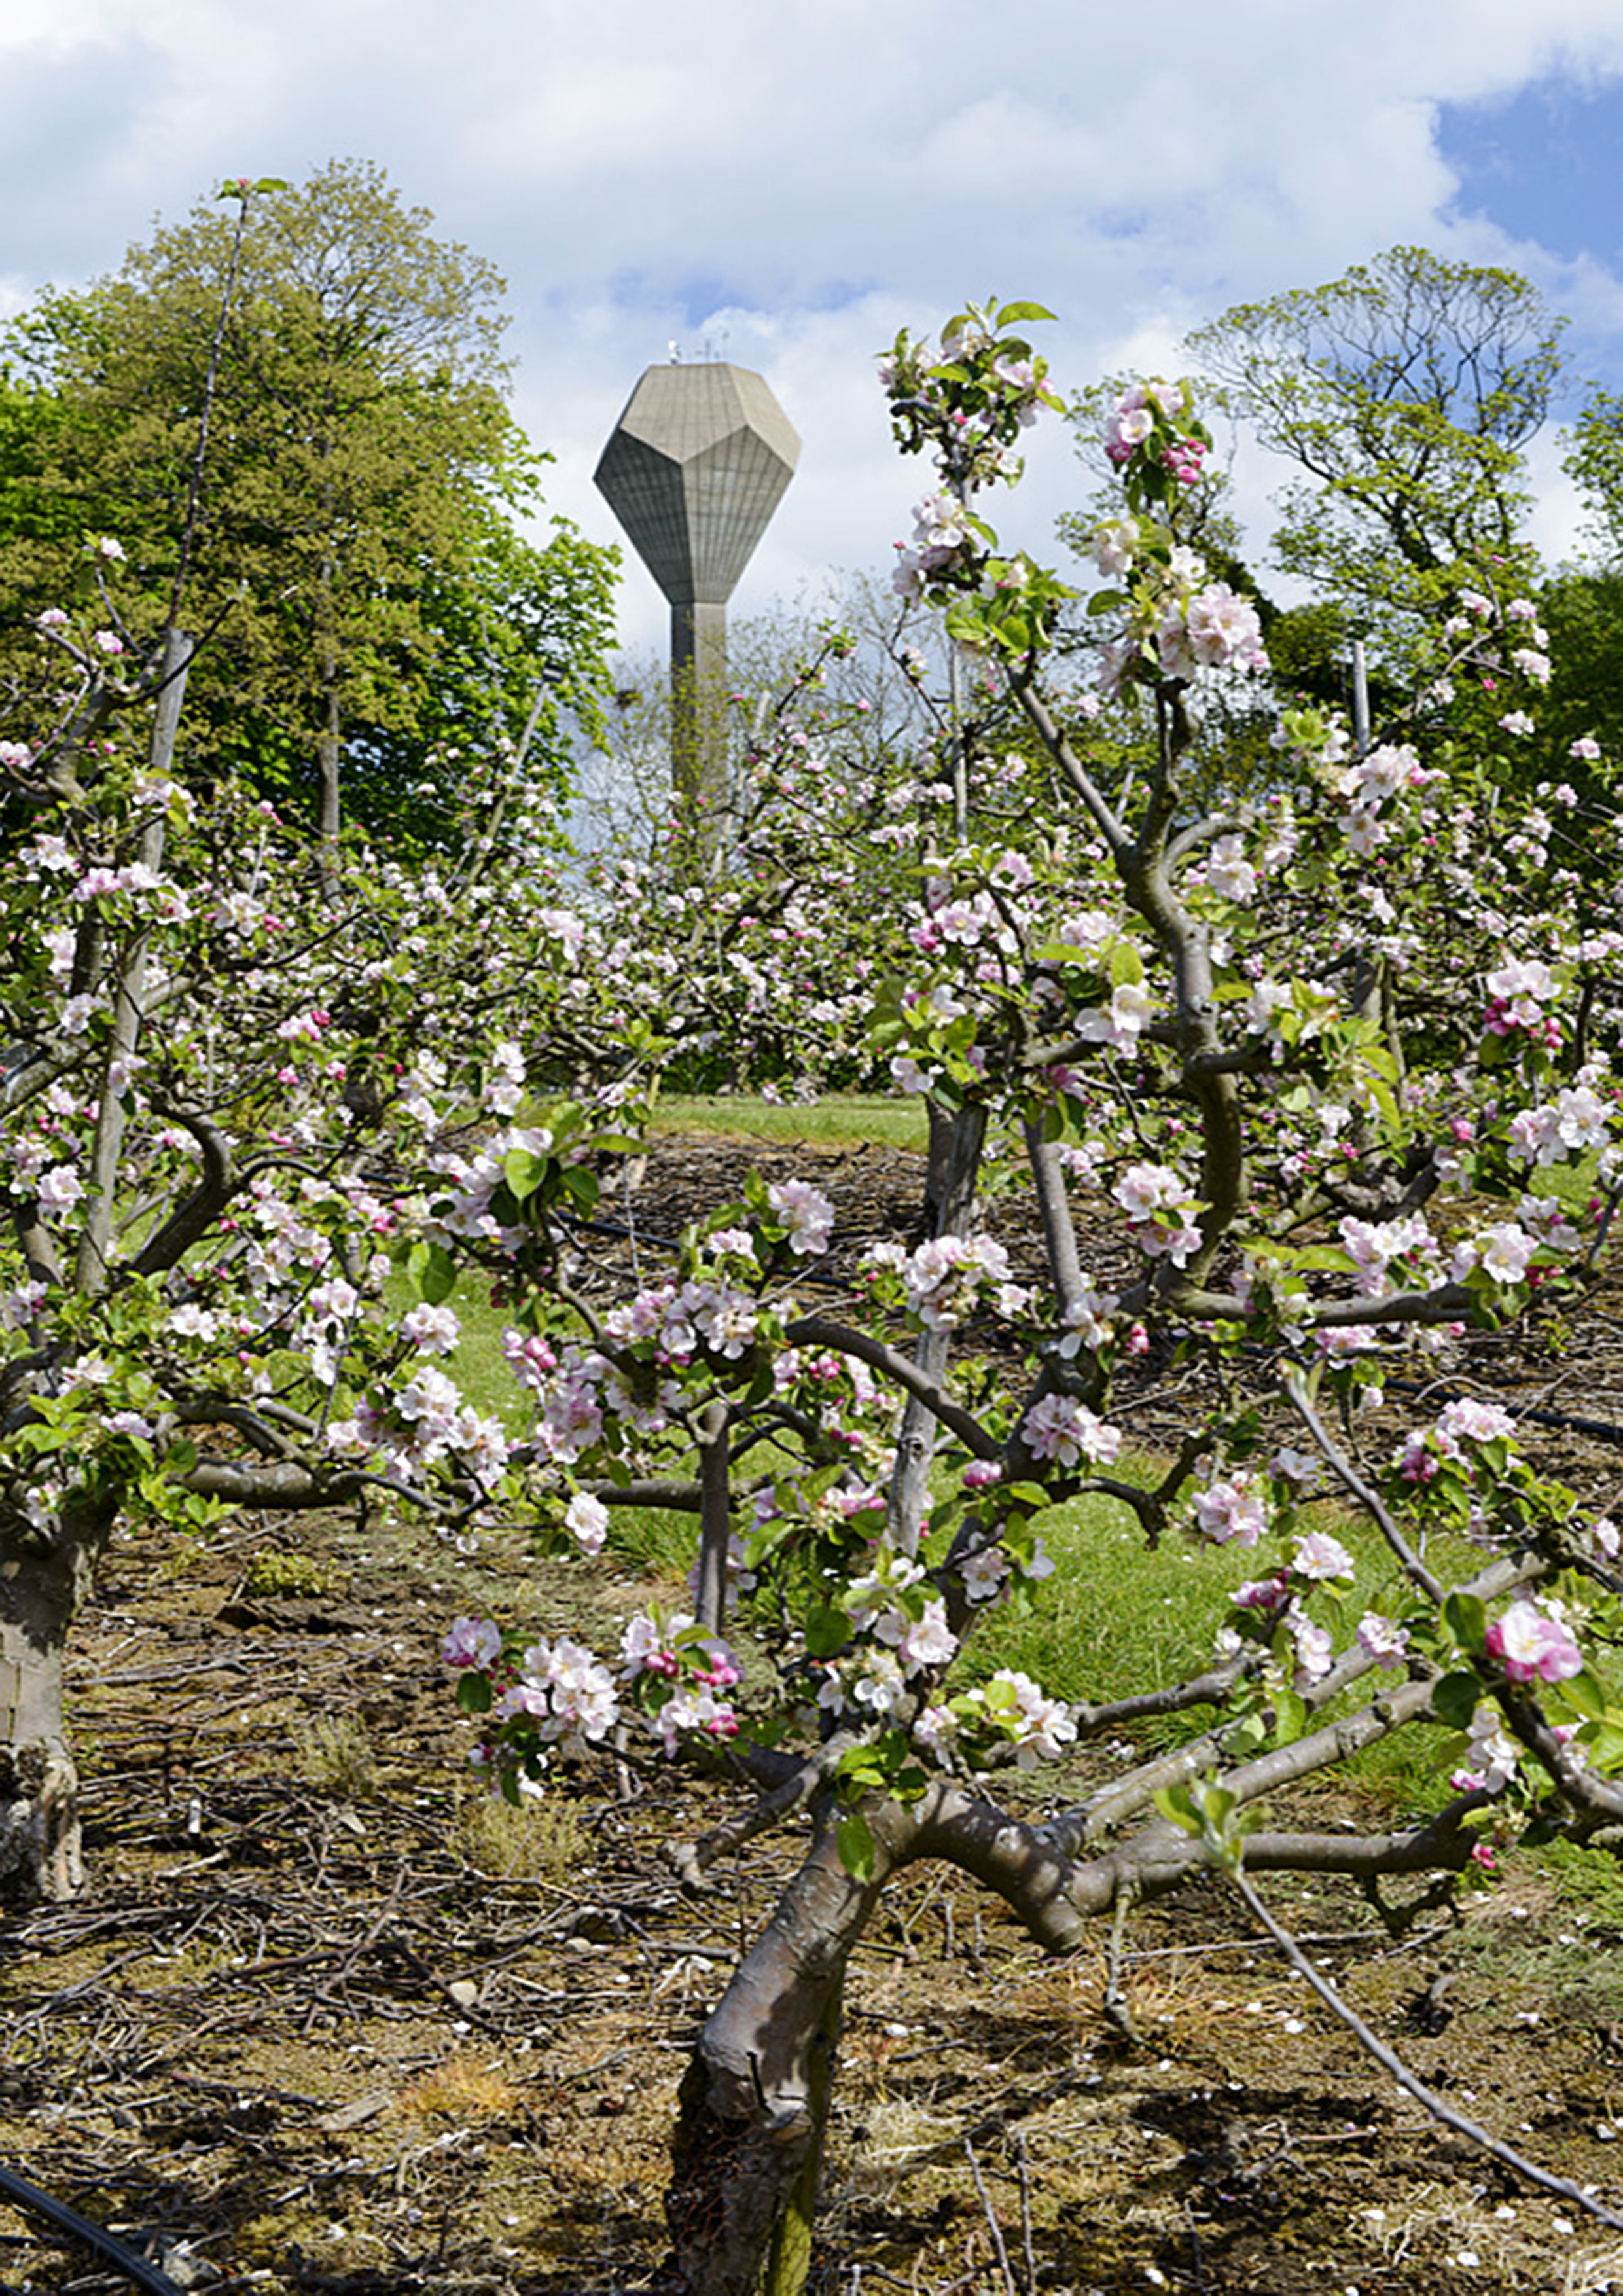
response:
<svg viewBox="0 0 1623 2296"><path fill-rule="evenodd" d="M670 599L670 774L709 852L728 794L728 599L794 475L801 441L760 374L650 367L597 484Z"/></svg>

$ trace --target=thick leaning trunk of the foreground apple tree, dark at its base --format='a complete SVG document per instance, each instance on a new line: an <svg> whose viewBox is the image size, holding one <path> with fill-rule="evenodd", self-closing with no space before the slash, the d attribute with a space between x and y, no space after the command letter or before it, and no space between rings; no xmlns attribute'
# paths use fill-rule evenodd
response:
<svg viewBox="0 0 1623 2296"><path fill-rule="evenodd" d="M852 1947L914 1821L872 1816L875 1874L840 1864L833 1814L705 2023L682 2080L666 2216L691 2296L797 2296L810 2262L822 2135Z"/></svg>

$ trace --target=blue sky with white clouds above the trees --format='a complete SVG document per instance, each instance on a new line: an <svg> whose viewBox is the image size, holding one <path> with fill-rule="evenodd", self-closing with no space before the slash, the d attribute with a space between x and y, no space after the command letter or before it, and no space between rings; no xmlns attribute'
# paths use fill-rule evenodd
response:
<svg viewBox="0 0 1623 2296"><path fill-rule="evenodd" d="M1618 0L5 0L0 317L227 174L374 161L505 273L514 411L588 537L620 540L592 471L645 365L767 377L803 450L746 615L888 572L925 471L875 354L966 298L1049 305L1070 388L1428 246L1527 273L1623 388L1621 145ZM1242 452L1258 535L1276 475ZM1559 439L1533 484L1570 553ZM1079 491L1049 418L989 514L1054 556ZM627 560L622 638L663 647Z"/></svg>

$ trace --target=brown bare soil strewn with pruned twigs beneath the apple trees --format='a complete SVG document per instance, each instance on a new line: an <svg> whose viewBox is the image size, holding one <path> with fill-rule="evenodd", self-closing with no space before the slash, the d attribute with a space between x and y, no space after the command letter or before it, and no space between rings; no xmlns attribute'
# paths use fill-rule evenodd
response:
<svg viewBox="0 0 1623 2296"><path fill-rule="evenodd" d="M822 1176L847 1228L916 1217L916 1159L753 1159ZM638 1249L737 1171L666 1150ZM1607 1316L1504 1345L1504 1389L1609 1419ZM1556 1440L1616 1481L1621 1453ZM696 1807L608 1759L503 1835L436 1660L459 1609L608 1635L652 1591L613 1550L533 1573L519 1541L464 1561L337 1518L117 1543L73 1660L92 1892L0 1933L0 2163L179 2287L661 2289L686 2048L797 1841L689 1901L661 1844L725 1789ZM1460 1908L1396 1894L1400 1938L1341 1885L1269 1887L1423 2080L1618 2209L1623 1883L1529 1860ZM1217 1880L1134 1915L1132 2037L1106 1947L1045 1961L941 1869L891 1894L849 1984L820 2296L1623 2289L1623 2239L1430 2124ZM0 2296L119 2285L0 2209Z"/></svg>

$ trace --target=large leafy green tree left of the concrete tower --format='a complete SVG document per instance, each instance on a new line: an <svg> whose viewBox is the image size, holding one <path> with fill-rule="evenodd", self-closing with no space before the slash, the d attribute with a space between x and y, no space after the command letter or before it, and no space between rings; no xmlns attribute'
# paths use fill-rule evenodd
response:
<svg viewBox="0 0 1623 2296"><path fill-rule="evenodd" d="M455 769L416 806L436 751L517 742L537 693L528 771L562 771L562 712L599 689L613 560L562 521L544 549L514 523L542 457L503 397L489 264L363 163L227 193L248 214L188 576L195 739L312 801L328 840L340 783L372 827L432 836L461 810ZM0 436L44 507L5 523L11 627L55 602L85 533L119 535L161 620L234 227L200 202L14 328Z"/></svg>

